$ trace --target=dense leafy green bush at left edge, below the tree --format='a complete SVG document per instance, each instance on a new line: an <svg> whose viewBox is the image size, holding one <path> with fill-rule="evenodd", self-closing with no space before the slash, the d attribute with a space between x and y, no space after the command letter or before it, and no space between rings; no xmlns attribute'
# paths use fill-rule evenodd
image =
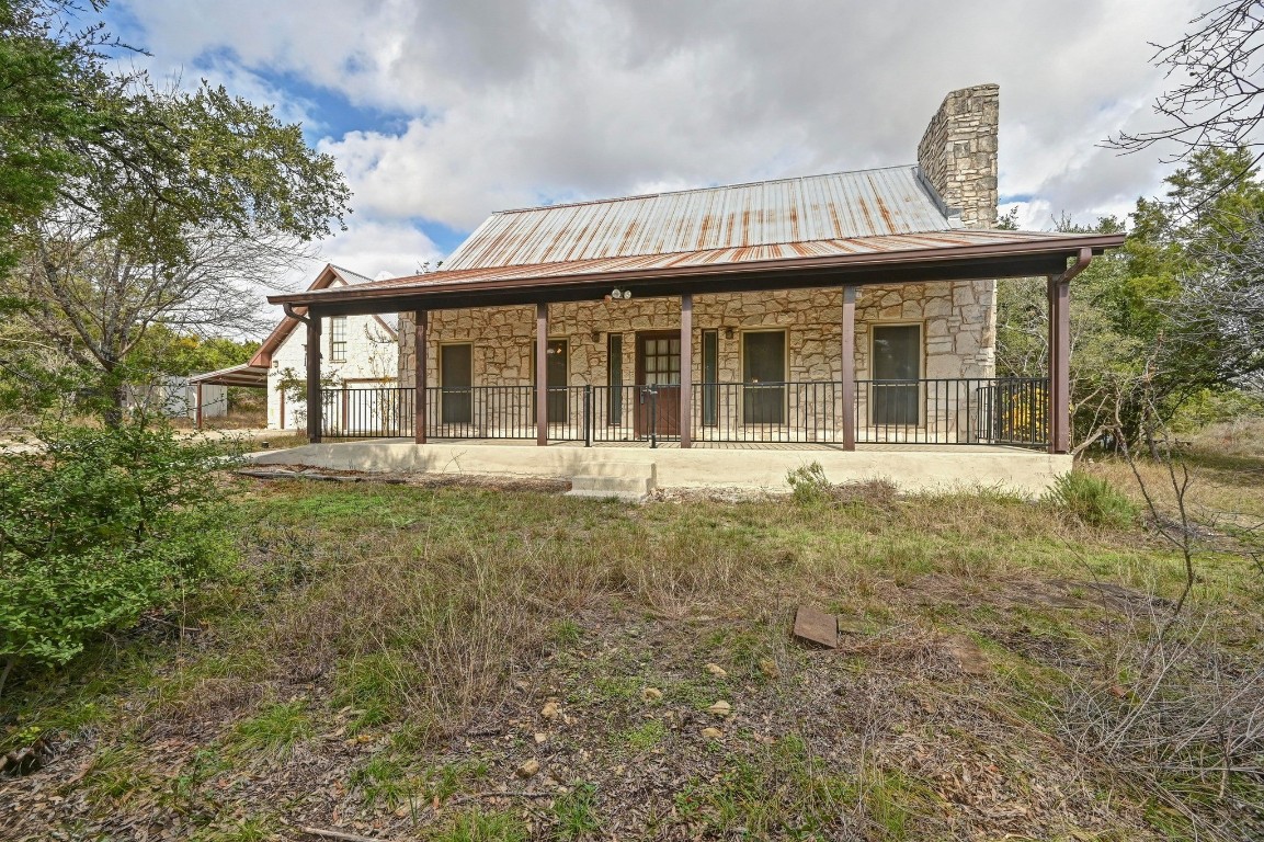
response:
<svg viewBox="0 0 1264 842"><path fill-rule="evenodd" d="M214 450L143 421L0 448L0 692L211 571L226 547Z"/></svg>

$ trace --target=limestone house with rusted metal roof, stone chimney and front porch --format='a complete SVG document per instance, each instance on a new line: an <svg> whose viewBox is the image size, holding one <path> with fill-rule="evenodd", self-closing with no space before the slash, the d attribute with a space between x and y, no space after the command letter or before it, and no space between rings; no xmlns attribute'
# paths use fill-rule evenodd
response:
<svg viewBox="0 0 1264 842"><path fill-rule="evenodd" d="M502 211L442 271L269 301L322 319L310 346L329 316L401 314L410 410L370 435L886 454L857 467L973 445L935 464L981 479L985 448L1012 465L1068 451L1068 284L1124 239L997 230L997 120L995 85L963 88L915 163ZM1031 276L1049 374L996 378L996 283Z"/></svg>

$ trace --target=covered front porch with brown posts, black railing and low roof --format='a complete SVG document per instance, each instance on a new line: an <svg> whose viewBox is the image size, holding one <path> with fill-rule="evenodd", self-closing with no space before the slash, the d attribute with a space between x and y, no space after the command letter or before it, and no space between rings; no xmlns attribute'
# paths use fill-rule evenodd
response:
<svg viewBox="0 0 1264 842"><path fill-rule="evenodd" d="M1064 454L1069 448L1069 284L1095 254L1120 240L1119 235L957 230L832 241L832 253L791 258L748 249L664 255L661 262L637 259L632 268L627 259L609 259L444 271L272 301L306 324L312 442L325 436L407 436L416 444L504 440L536 446L571 442L689 450L743 445L841 451L865 445L969 450L997 445ZM990 365L972 368L971 375L933 377L928 374L937 372L928 370L927 362L889 364L884 370L880 330L886 331L884 348L897 346L901 330L919 336L910 359L929 360L937 345L962 357L959 334L964 330L952 326L961 320L928 315L911 325L908 320L857 322L857 298L872 290L977 288L996 278L1031 276L1047 278L1045 377L990 377ZM739 319L734 325L717 319L714 307L708 310L709 302L724 296L771 301L779 295L806 296L801 310L828 329L799 346L793 334L769 329L766 321ZM629 300L669 302L670 308L653 320L605 329L602 320ZM584 324L590 330L575 327L576 307L586 308ZM453 343L445 341L450 335L431 336L454 312L497 308L503 314L498 321L479 322L483 330L493 330L494 324L499 325L495 330L521 339L501 349L494 360L475 364L478 339ZM368 312L410 316L404 339L412 377L401 382L415 384L322 389L320 317ZM695 320L698 314L702 317ZM560 338L554 330L559 315L570 319ZM939 335L918 333L937 324L947 325ZM866 341L858 343L858 330ZM983 344L971 341L972 348ZM590 348L575 348L579 344ZM822 354L818 346L829 348ZM741 349L739 354L734 357L733 349ZM602 355L607 360L600 377L592 367L578 374L570 369L566 360L580 350L586 359ZM857 364L858 350L870 357L863 367ZM791 365L793 351L805 359L813 354L828 359ZM523 377L498 381L499 372Z"/></svg>

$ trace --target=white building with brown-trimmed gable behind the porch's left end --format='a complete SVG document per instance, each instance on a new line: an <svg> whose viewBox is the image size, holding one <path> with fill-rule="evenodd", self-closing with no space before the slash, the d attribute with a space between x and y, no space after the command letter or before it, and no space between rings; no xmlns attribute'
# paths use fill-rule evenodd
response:
<svg viewBox="0 0 1264 842"><path fill-rule="evenodd" d="M307 291L363 283L372 283L372 278L326 264ZM383 417L393 411L399 367L394 322L394 314L334 315L321 320L320 383L330 392L324 420L331 430L349 435L378 430ZM306 429L307 336L295 330L300 324L298 317L286 316L249 363L200 374L191 382L204 391L212 386L267 388L268 429Z"/></svg>

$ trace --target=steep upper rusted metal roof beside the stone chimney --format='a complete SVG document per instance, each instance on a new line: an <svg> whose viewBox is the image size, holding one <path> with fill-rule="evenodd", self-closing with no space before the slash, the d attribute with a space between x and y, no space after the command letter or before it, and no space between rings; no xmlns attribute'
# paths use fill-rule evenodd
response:
<svg viewBox="0 0 1264 842"><path fill-rule="evenodd" d="M501 211L434 274L637 257L695 259L689 255L704 253L715 262L762 259L742 257L751 249L795 257L959 228L916 167L887 167ZM824 245L796 250L804 244ZM875 240L872 248L887 245ZM856 247L866 248L871 245Z"/></svg>

